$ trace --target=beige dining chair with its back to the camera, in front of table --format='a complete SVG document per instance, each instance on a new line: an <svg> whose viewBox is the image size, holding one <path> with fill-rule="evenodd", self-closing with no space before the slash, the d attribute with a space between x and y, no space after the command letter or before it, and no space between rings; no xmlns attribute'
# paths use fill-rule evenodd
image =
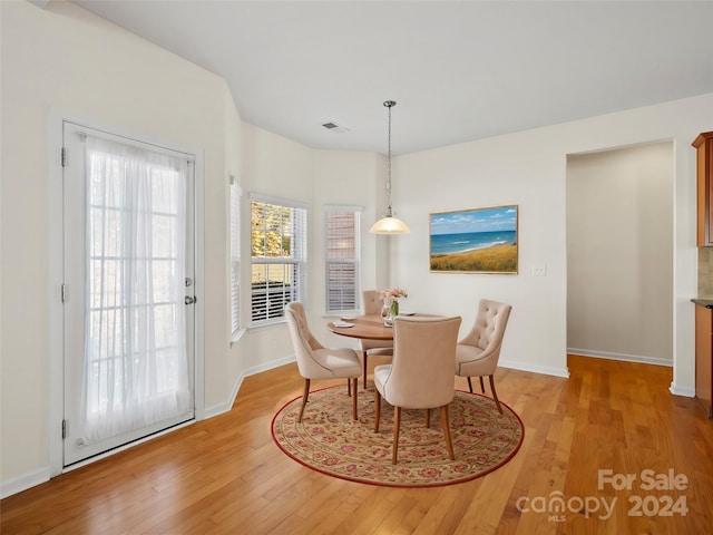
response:
<svg viewBox="0 0 713 535"><path fill-rule="evenodd" d="M448 456L455 460L448 405L456 392L456 344L461 319L397 317L393 321L393 362L374 368L374 432L379 432L381 398L393 406L393 450L397 464L401 409L440 408Z"/></svg>

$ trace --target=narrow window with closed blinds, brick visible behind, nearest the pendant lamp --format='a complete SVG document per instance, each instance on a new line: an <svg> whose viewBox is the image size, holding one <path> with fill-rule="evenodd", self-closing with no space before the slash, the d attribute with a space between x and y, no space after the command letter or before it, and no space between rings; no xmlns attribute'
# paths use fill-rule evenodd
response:
<svg viewBox="0 0 713 535"><path fill-rule="evenodd" d="M359 309L360 206L325 206L326 311Z"/></svg>

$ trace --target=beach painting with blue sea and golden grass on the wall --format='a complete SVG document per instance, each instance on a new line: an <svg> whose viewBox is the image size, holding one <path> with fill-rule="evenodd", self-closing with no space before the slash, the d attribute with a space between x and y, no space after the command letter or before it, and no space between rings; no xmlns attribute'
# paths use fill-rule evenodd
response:
<svg viewBox="0 0 713 535"><path fill-rule="evenodd" d="M432 272L517 273L517 205L429 214Z"/></svg>

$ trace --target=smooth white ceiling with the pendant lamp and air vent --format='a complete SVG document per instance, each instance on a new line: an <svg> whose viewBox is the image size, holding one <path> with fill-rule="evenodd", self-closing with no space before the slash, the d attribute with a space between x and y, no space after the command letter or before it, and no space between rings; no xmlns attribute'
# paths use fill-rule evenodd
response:
<svg viewBox="0 0 713 535"><path fill-rule="evenodd" d="M713 1L74 3L315 148L384 153L388 99L400 154L713 93Z"/></svg>

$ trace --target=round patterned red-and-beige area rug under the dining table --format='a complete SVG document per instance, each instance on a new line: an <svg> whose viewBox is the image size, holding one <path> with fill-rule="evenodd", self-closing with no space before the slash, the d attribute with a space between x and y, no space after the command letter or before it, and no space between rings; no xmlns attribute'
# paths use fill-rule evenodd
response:
<svg viewBox="0 0 713 535"><path fill-rule="evenodd" d="M502 415L485 396L456 391L449 407L456 460L448 458L439 410L402 410L398 464L391 464L393 408L382 399L381 424L374 434L373 387L359 392L359 420L352 419L346 388L310 393L302 422L302 398L295 398L272 420L272 437L287 456L329 476L392 487L434 487L484 476L510 460L522 444L520 418L507 405Z"/></svg>

